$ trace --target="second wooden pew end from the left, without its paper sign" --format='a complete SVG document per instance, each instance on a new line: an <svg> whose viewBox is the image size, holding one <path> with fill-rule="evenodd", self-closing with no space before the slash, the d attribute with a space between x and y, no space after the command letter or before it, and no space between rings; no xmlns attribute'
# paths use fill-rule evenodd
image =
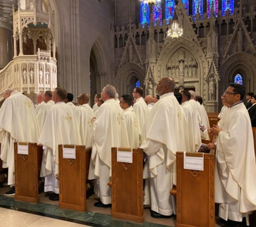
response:
<svg viewBox="0 0 256 227"><path fill-rule="evenodd" d="M86 211L86 181L92 147L64 145L75 147L75 159L63 158L63 145L59 145L59 207Z"/></svg>

